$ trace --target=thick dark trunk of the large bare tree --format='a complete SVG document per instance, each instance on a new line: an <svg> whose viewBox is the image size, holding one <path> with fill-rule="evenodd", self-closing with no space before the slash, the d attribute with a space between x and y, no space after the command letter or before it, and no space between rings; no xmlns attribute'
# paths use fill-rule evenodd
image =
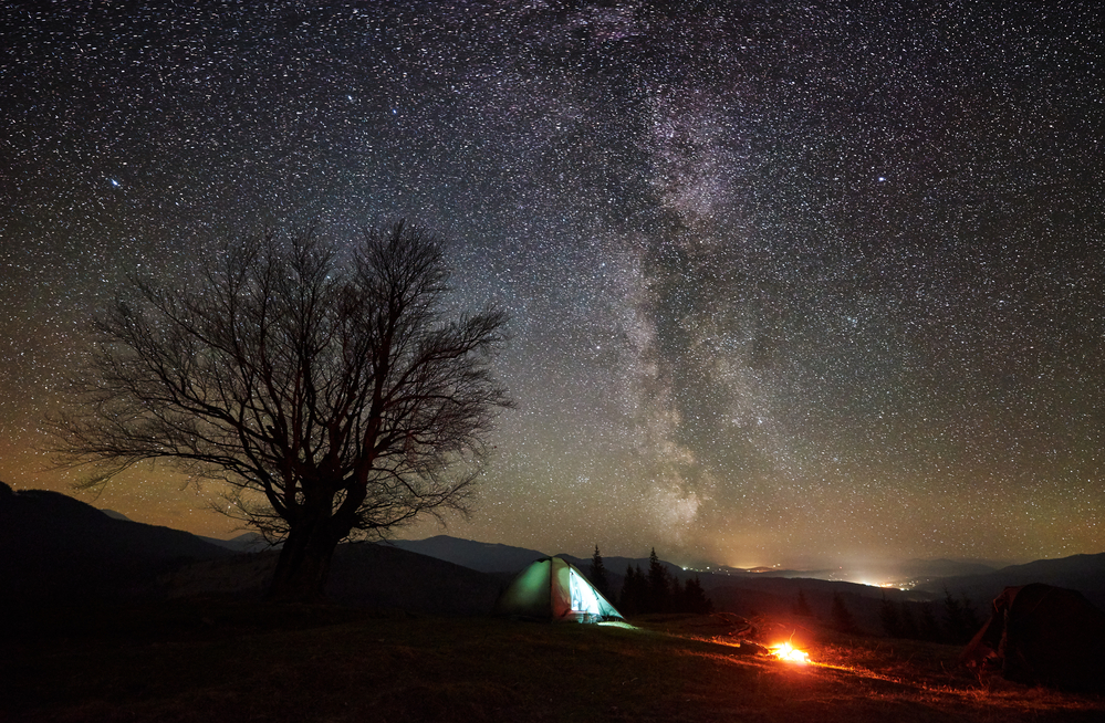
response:
<svg viewBox="0 0 1105 723"><path fill-rule="evenodd" d="M329 517L292 525L280 549L268 599L311 602L323 597L334 548L344 537L335 535L333 527Z"/></svg>

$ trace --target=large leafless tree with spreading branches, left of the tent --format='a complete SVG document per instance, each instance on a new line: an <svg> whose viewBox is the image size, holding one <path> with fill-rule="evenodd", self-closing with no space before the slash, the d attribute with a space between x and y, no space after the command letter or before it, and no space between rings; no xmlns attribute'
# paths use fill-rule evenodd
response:
<svg viewBox="0 0 1105 723"><path fill-rule="evenodd" d="M105 484L168 460L228 486L226 510L283 542L274 599L322 594L336 545L467 512L496 413L503 312L447 318L439 244L402 221L347 261L314 232L229 247L180 291L133 280L96 318L69 462Z"/></svg>

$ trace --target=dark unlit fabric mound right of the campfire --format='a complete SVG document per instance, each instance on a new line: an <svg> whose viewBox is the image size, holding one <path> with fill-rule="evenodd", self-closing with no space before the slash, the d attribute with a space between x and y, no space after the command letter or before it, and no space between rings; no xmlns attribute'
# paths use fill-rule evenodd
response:
<svg viewBox="0 0 1105 723"><path fill-rule="evenodd" d="M1105 612L1076 590L1007 587L960 660L1030 685L1105 692Z"/></svg>

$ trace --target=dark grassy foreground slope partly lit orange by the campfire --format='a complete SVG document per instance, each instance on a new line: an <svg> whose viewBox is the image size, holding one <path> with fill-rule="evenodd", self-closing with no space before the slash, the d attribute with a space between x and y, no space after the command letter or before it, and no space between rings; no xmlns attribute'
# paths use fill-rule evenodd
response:
<svg viewBox="0 0 1105 723"><path fill-rule="evenodd" d="M817 661L801 668L740 654L715 622L43 611L0 640L0 721L1105 720L1101 698L959 672L958 648L800 631Z"/></svg>

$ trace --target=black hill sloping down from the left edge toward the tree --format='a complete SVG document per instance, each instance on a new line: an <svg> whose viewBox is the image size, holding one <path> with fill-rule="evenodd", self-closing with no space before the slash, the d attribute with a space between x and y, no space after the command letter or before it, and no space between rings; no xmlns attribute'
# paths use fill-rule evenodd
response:
<svg viewBox="0 0 1105 723"><path fill-rule="evenodd" d="M231 554L179 530L0 482L0 605L118 598L175 566Z"/></svg>

